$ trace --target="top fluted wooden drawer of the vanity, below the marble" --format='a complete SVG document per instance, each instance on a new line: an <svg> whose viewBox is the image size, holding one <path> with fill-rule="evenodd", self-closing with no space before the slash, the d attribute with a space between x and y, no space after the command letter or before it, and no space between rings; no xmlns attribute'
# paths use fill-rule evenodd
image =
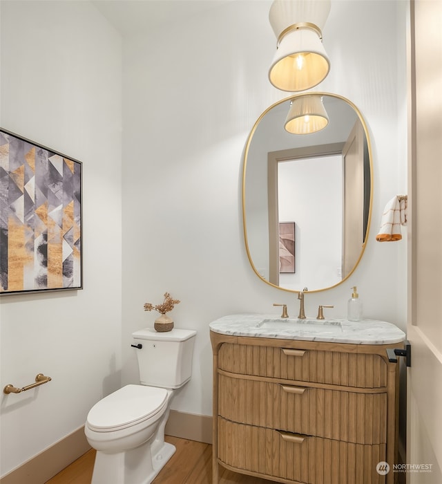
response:
<svg viewBox="0 0 442 484"><path fill-rule="evenodd" d="M375 354L224 343L218 352L218 368L243 375L344 387L387 385L387 364Z"/></svg>

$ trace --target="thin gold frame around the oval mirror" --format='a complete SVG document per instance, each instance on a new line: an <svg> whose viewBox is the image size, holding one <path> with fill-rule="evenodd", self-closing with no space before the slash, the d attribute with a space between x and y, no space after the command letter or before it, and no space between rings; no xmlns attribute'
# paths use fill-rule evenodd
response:
<svg viewBox="0 0 442 484"><path fill-rule="evenodd" d="M271 281L265 279L265 277L262 277L262 275L260 274L260 271L256 268L256 265L253 262L253 257L251 255L251 250L250 250L250 247L249 247L249 236L247 234L246 177L247 177L247 166L250 165L250 163L251 163L251 160L249 159L249 153L250 153L251 143L253 141L253 136L256 135L256 131L258 129L258 126L262 122L263 118L265 118L265 116L268 115L268 113L270 113L272 111L272 109L275 109L277 106L280 106L280 104L287 103L287 102L291 102L291 100L294 100L294 99L296 99L298 97L302 97L302 96L305 96L305 95L312 95L312 94L320 95L320 96L323 96L323 97L326 97L326 96L327 97L332 97L332 98L334 98L334 100L341 100L341 101L347 103L348 106L350 106L353 109L354 113L356 113L356 118L355 119L358 119L361 122L361 126L363 128L363 134L365 136L366 150L367 150L367 155L368 155L368 166L369 166L369 202L368 202L368 211L367 211L367 217L366 217L367 219L365 221L365 224L366 224L365 225L366 226L365 237L364 237L363 243L361 245L361 252L360 252L360 254L357 257L356 263L354 263L353 268L351 268L348 271L348 273L345 274L345 276L342 277L342 279L340 279L338 282L332 283L332 284L330 284L327 287L311 288L311 289L309 288L309 292L320 292L320 291L323 291L323 290L328 290L328 289L334 288L336 286L339 286L344 281L346 281L347 279L349 279L349 277L353 274L354 270L356 270L359 262L361 261L361 259L363 257L363 253L365 251L365 247L367 245L367 241L368 241L368 237L369 237L369 230L370 230L371 219L372 219L373 179L374 179L374 176L373 176L372 145L371 145L370 138L369 138L367 124L365 123L365 120L363 118L363 115L361 114L361 112L359 111L359 109L356 107L356 105L352 101L348 100L347 98L345 98L345 97L343 97L341 95L337 95L337 94L333 94L333 93L325 93L325 92L307 92L307 93L298 93L296 95L291 95L289 97L285 97L284 99L282 99L282 100L280 100L278 102L275 102L274 104L272 104L271 106L269 106L259 116L258 120L256 120L255 124L253 125L253 128L251 129L251 132L249 133L249 137L247 138L247 142L246 142L246 145L244 147L244 157L243 157L243 166L242 166L242 223L243 223L243 231L244 231L244 243L245 243L245 247L246 247L246 251L247 251L247 257L248 257L249 262L251 264L251 267L252 267L253 271L256 273L256 275L262 281L264 281L265 283L267 283L269 286L272 286L273 288L277 288L277 289L284 290L284 291L287 291L287 292L294 292L294 293L298 293L302 288L300 288L299 290L294 290L294 289L291 289L291 288L281 287L281 286L278 286L275 283L272 283ZM331 122L333 122L333 120L331 120ZM283 122L281 124L283 124ZM282 130L284 129L283 125L281 126L281 129ZM291 136L299 136L299 135L291 135ZM310 135L301 135L301 136L310 136ZM268 230L269 230L269 228L267 227L267 231Z"/></svg>

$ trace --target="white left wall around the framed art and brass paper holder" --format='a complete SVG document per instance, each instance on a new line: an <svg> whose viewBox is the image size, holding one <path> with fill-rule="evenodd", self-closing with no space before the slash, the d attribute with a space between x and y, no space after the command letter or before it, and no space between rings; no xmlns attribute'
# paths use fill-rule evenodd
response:
<svg viewBox="0 0 442 484"><path fill-rule="evenodd" d="M5 1L4 129L83 163L84 290L0 298L1 472L81 427L121 368L121 37L88 2Z"/></svg>

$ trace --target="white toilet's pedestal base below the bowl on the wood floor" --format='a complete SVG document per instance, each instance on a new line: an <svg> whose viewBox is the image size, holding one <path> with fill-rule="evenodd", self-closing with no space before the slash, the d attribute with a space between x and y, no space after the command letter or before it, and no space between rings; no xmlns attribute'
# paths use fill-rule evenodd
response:
<svg viewBox="0 0 442 484"><path fill-rule="evenodd" d="M175 450L175 445L165 442L151 455L151 442L146 442L117 454L97 451L91 484L151 484Z"/></svg>

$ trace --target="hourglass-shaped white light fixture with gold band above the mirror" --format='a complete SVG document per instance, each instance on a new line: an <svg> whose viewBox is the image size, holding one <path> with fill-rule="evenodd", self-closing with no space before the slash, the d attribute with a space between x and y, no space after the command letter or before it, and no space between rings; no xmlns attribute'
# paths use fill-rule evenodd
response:
<svg viewBox="0 0 442 484"><path fill-rule="evenodd" d="M281 91L305 91L327 77L322 29L331 0L275 0L269 21L278 39L269 80Z"/></svg>

